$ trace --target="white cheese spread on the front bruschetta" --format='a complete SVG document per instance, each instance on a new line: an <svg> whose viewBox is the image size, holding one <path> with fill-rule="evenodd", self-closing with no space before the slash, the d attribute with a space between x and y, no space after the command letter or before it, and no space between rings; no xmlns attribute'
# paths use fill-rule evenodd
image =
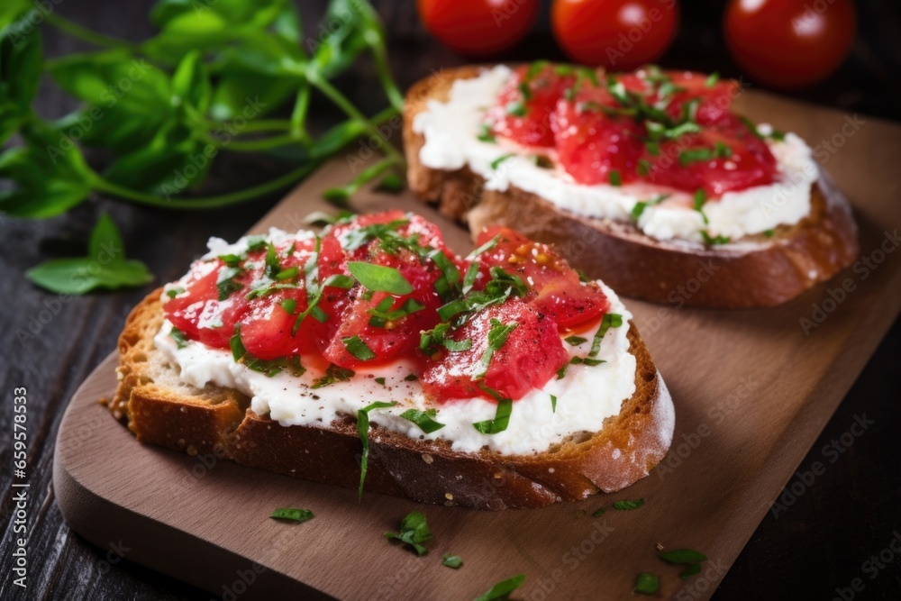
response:
<svg viewBox="0 0 901 601"><path fill-rule="evenodd" d="M246 247L239 242L227 248L240 251L242 246ZM223 241L214 239L211 250L214 248L219 252L226 247ZM169 285L167 289L177 286L178 283ZM398 405L393 407L370 411L369 421L411 438L446 440L455 451L478 452L487 448L507 455L530 454L547 451L571 434L602 430L604 420L619 414L623 401L635 393L636 360L629 352L626 335L633 315L610 288L603 284L601 287L610 300L609 312L623 315L623 325L610 328L601 341L596 358L605 362L596 366L569 365L564 378L553 377L541 389L514 401L507 429L496 434L480 433L472 425L495 417L494 402L479 397L432 405L418 381L405 380L413 371L407 360L357 369L350 381L311 388L314 380L322 376L314 369L308 369L301 377L282 372L268 378L235 362L231 351L214 349L197 341L188 341L179 349L169 335L172 324L168 320L162 324L154 344L178 369L179 378L185 383L195 387L212 383L240 390L250 396L254 413L268 414L283 426L328 427L338 414L356 416L359 409L374 401L396 401ZM165 292L162 300L168 300ZM587 355L596 327L595 323L587 330L567 332L567 336L575 334L587 339L578 346L563 342L570 356ZM378 384L375 378L385 378L385 385ZM557 397L556 412L552 410L551 395ZM445 426L433 433L423 433L417 425L400 417L411 408L438 409L435 420ZM672 433L671 411L668 415L660 423L661 433Z"/></svg>

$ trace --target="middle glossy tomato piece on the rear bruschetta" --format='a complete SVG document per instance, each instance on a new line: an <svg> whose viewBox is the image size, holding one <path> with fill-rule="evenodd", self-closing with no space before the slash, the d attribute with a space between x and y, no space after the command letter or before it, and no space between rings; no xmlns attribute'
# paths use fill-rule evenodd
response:
<svg viewBox="0 0 901 601"><path fill-rule="evenodd" d="M560 165L579 184L625 184L636 176L644 152L642 126L629 116L606 114L615 105L605 89L561 98L552 126Z"/></svg>

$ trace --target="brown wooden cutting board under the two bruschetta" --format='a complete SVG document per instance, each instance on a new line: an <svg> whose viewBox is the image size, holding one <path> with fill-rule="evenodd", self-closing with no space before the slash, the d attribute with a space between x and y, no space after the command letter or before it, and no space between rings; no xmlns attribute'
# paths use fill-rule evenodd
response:
<svg viewBox="0 0 901 601"><path fill-rule="evenodd" d="M642 571L660 575L658 598L708 598L901 308L901 127L763 94L741 103L751 118L815 147L851 199L869 264L771 310L628 300L677 412L669 456L648 478L618 494L532 511L378 495L358 503L352 490L136 442L97 403L114 390L111 356L77 391L59 428L53 481L63 515L89 541L115 542L127 559L226 600L471 599L518 573L527 579L515 598L629 598ZM323 188L350 178L347 165L324 166L251 231L303 227L306 214L327 208ZM441 225L452 248L470 248L465 232L408 194L363 193L354 207L419 212ZM645 503L590 516L626 498ZM282 506L311 509L315 518L270 520ZM434 535L422 558L382 536L413 510L427 515ZM658 543L709 560L684 582L656 558ZM442 567L445 552L460 555L463 567Z"/></svg>

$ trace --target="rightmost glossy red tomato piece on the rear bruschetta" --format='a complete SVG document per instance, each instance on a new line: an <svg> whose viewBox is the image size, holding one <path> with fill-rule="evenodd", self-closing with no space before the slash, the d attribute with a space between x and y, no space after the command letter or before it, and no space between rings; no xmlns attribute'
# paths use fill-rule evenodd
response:
<svg viewBox="0 0 901 601"><path fill-rule="evenodd" d="M703 189L712 197L772 183L777 163L766 142L734 116L726 123L661 144L660 156L648 157L649 179L687 192Z"/></svg>

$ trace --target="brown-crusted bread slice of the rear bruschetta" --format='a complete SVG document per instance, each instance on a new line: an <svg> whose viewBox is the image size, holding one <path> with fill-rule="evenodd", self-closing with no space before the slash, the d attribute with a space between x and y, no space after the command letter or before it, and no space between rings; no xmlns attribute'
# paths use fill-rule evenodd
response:
<svg viewBox="0 0 901 601"><path fill-rule="evenodd" d="M656 303L750 308L781 305L848 267L859 253L851 207L823 174L811 190L811 212L769 237L746 236L723 246L660 241L633 223L596 219L562 209L511 186L485 189L469 168L425 167L424 144L414 132L416 114L429 100L445 101L457 79L477 77L478 67L443 70L415 84L404 109L407 180L441 214L469 223L475 237L487 225L514 227L560 254L617 293Z"/></svg>

